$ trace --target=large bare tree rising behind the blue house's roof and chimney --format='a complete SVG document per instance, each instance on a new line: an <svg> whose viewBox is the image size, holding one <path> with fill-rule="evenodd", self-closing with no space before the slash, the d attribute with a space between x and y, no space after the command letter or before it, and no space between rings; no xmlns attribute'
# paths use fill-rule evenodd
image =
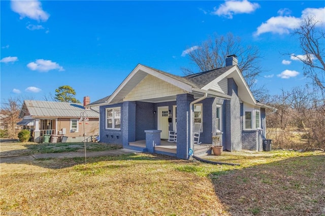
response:
<svg viewBox="0 0 325 216"><path fill-rule="evenodd" d="M213 38L209 38L196 48L187 53L195 68L182 68L185 75L223 67L226 56L236 54L238 67L254 96L262 98L267 93L264 86L256 86L257 77L264 71L259 64L262 57L259 56L257 47L250 45L245 47L239 37L228 33L226 36L221 35L220 37L215 34Z"/></svg>

